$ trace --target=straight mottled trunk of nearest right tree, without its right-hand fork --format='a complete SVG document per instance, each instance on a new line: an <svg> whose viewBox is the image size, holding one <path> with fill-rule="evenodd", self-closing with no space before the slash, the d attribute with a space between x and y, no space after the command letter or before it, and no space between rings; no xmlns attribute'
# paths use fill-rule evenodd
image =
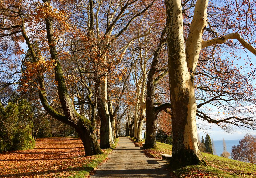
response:
<svg viewBox="0 0 256 178"><path fill-rule="evenodd" d="M170 165L173 169L206 165L197 139L194 75L187 66L181 1L165 0L165 4L173 132Z"/></svg>

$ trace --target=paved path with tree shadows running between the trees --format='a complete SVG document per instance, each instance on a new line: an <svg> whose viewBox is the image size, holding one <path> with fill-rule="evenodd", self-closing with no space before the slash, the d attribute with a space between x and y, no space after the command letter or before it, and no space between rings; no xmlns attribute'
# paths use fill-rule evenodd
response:
<svg viewBox="0 0 256 178"><path fill-rule="evenodd" d="M108 155L91 177L170 177L166 161L147 158L139 146L119 137L118 146Z"/></svg>

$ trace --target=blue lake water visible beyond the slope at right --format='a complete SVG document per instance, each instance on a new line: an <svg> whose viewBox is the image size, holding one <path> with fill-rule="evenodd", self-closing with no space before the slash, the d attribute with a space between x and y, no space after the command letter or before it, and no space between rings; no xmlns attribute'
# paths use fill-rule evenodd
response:
<svg viewBox="0 0 256 178"><path fill-rule="evenodd" d="M214 147L216 150L216 154L220 156L223 152L223 140L214 140ZM239 144L239 140L225 140L227 152L231 153L232 146L237 146Z"/></svg>

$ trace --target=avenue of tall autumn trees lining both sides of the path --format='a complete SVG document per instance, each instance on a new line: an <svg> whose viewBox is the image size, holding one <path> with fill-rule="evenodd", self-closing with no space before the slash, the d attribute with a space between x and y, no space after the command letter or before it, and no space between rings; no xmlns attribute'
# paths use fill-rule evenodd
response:
<svg viewBox="0 0 256 178"><path fill-rule="evenodd" d="M76 130L85 155L118 135L140 142L144 129L144 149L155 148L159 130L172 135L172 168L206 165L200 147L212 153L211 139L199 145L196 117L256 126L255 69L238 54L256 55L255 4L0 1L0 106L15 88L30 93L38 115Z"/></svg>

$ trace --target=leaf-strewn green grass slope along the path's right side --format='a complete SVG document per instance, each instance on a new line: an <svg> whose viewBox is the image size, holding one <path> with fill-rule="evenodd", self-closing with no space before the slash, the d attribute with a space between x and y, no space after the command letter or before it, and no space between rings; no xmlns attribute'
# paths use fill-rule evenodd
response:
<svg viewBox="0 0 256 178"><path fill-rule="evenodd" d="M130 138L133 140L133 138ZM134 140L135 141L135 140ZM145 140L135 143L142 146ZM172 146L160 142L157 143L157 149L146 149L144 153L148 157L161 158L161 154L172 153ZM184 168L174 171L177 177L256 177L256 165L235 161L228 158L222 158L216 155L202 153L208 166L186 166ZM231 173L239 173L237 175L230 175ZM243 173L251 173L251 175L244 175Z"/></svg>

